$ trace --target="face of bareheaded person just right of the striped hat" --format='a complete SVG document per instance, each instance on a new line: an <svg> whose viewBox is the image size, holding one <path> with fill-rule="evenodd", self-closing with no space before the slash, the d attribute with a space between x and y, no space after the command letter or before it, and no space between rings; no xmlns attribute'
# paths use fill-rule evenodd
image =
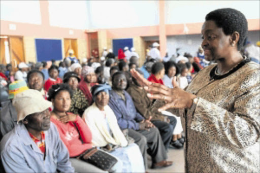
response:
<svg viewBox="0 0 260 173"><path fill-rule="evenodd" d="M41 74L33 73L29 77L28 85L30 89L41 91L44 85L44 79Z"/></svg>

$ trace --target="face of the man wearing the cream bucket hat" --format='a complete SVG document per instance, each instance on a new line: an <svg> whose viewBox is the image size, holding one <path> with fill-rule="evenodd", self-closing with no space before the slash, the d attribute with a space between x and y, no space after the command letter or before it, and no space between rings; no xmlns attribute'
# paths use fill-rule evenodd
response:
<svg viewBox="0 0 260 173"><path fill-rule="evenodd" d="M28 115L24 120L26 128L30 128L35 131L45 131L50 128L50 111L46 109L42 112L37 112L35 114Z"/></svg>

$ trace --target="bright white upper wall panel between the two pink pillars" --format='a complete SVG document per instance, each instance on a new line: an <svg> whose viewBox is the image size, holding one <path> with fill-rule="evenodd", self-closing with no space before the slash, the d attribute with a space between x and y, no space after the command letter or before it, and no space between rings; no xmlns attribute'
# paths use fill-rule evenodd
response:
<svg viewBox="0 0 260 173"><path fill-rule="evenodd" d="M87 1L89 29L159 24L158 1Z"/></svg>

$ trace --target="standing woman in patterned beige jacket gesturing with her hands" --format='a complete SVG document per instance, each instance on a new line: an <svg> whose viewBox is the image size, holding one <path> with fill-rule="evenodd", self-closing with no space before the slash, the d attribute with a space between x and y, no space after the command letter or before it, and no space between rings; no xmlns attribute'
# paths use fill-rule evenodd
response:
<svg viewBox="0 0 260 173"><path fill-rule="evenodd" d="M202 26L205 59L186 91L152 84L135 70L150 98L164 100L185 127L186 172L260 172L259 64L240 54L247 36L245 16L231 8L217 9ZM176 83L176 82L174 82Z"/></svg>

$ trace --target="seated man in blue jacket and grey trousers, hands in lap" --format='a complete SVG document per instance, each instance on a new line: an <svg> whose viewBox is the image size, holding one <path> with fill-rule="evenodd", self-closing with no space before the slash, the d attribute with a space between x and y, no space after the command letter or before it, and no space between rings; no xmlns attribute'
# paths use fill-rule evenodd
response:
<svg viewBox="0 0 260 173"><path fill-rule="evenodd" d="M123 72L116 72L112 76L113 89L110 91L109 106L115 113L119 127L128 128L129 136L134 138L143 154L145 168L147 168L147 147L148 154L152 157L151 168L172 165L172 161L166 161L167 153L158 129L136 111L131 96L124 90L126 85Z"/></svg>

